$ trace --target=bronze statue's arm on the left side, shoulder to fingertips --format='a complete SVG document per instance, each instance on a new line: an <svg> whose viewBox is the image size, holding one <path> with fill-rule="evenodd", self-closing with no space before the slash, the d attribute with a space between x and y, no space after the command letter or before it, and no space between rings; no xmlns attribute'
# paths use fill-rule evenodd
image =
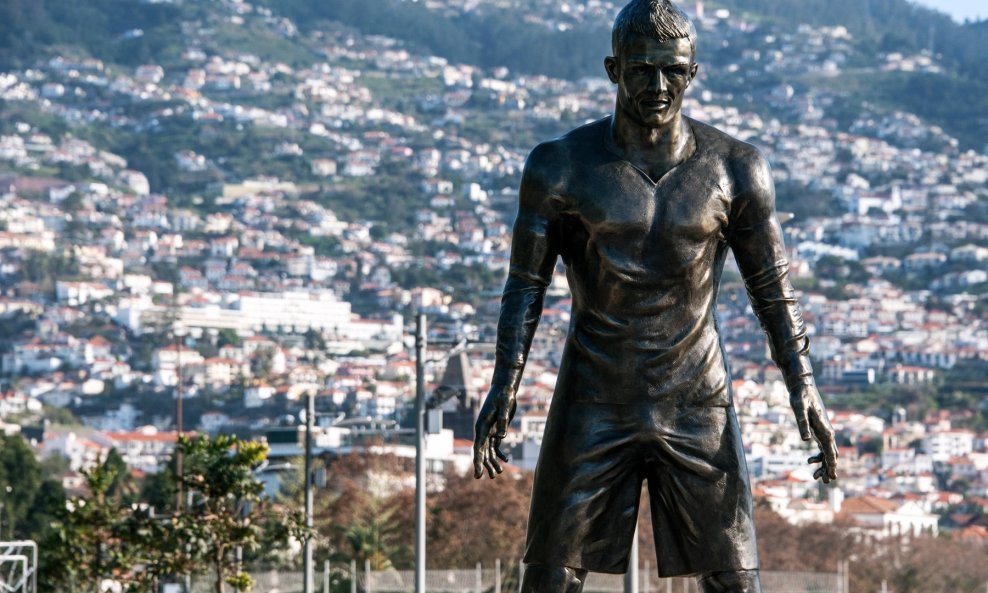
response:
<svg viewBox="0 0 988 593"><path fill-rule="evenodd" d="M498 458L506 460L498 447L515 413L518 384L559 254L556 218L564 174L559 150L546 144L536 147L522 174L497 324L494 377L475 430L474 475L478 478L485 472L493 478L501 472Z"/></svg>

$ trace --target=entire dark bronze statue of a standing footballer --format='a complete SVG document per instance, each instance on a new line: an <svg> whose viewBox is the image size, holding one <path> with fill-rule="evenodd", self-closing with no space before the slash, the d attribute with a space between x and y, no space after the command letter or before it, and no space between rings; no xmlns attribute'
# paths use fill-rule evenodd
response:
<svg viewBox="0 0 988 593"><path fill-rule="evenodd" d="M814 477L837 477L833 429L756 148L681 114L696 30L668 0L633 0L614 23L614 114L532 151L521 182L491 391L476 425L476 477L499 450L556 259L572 322L528 524L523 593L579 593L621 573L648 491L662 576L704 592L757 592L751 492L715 306L730 248Z"/></svg>

